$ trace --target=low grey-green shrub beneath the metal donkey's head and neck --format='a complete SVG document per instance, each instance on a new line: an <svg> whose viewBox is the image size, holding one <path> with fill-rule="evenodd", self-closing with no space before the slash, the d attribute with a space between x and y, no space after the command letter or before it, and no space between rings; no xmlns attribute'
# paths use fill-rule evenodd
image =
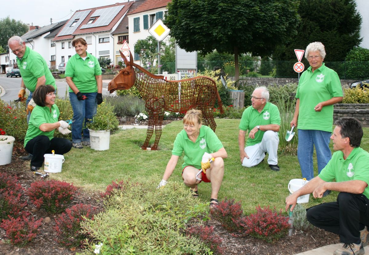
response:
<svg viewBox="0 0 369 255"><path fill-rule="evenodd" d="M145 111L145 101L132 95L114 96L107 95L104 97L108 104L114 106L114 112L118 117L135 116Z"/></svg>

